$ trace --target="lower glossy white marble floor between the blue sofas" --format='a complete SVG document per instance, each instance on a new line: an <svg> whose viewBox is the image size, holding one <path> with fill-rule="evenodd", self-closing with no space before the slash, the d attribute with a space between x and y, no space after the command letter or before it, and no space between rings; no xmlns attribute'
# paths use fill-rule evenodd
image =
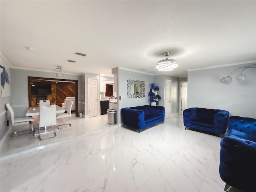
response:
<svg viewBox="0 0 256 192"><path fill-rule="evenodd" d="M99 127L101 117L95 119L93 126ZM221 138L185 130L181 115L141 133L117 126L100 130L31 151L23 144L26 153L1 155L0 191L224 191L218 171Z"/></svg>

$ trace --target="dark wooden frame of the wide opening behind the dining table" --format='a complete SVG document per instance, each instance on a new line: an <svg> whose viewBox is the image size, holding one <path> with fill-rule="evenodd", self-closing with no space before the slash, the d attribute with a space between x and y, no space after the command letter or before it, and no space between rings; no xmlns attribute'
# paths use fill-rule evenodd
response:
<svg viewBox="0 0 256 192"><path fill-rule="evenodd" d="M30 77L28 76L28 107L31 107L32 102L32 93L31 93L31 80L46 80L46 81L55 81L55 82L75 82L76 90L76 116L78 117L78 80L70 80L70 79L56 79L56 78L44 78L44 77Z"/></svg>

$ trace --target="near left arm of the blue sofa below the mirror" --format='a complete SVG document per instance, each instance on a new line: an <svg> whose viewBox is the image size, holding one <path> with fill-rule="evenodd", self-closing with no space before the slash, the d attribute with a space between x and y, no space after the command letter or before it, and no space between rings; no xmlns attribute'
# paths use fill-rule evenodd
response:
<svg viewBox="0 0 256 192"><path fill-rule="evenodd" d="M142 110L122 108L121 115L125 125L138 129L145 127L144 112Z"/></svg>

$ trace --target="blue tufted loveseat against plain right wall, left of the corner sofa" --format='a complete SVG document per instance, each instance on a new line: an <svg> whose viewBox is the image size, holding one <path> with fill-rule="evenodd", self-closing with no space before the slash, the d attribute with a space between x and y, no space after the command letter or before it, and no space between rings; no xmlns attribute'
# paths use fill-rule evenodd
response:
<svg viewBox="0 0 256 192"><path fill-rule="evenodd" d="M228 117L228 111L219 109L194 107L183 111L183 122L186 128L220 134L221 137L228 128Z"/></svg>

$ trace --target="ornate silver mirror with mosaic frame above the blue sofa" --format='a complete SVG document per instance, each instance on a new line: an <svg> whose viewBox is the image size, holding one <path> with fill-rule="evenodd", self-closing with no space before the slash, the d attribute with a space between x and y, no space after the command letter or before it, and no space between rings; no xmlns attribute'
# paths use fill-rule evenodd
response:
<svg viewBox="0 0 256 192"><path fill-rule="evenodd" d="M144 97L145 96L145 82L127 80L127 96L128 98Z"/></svg>

